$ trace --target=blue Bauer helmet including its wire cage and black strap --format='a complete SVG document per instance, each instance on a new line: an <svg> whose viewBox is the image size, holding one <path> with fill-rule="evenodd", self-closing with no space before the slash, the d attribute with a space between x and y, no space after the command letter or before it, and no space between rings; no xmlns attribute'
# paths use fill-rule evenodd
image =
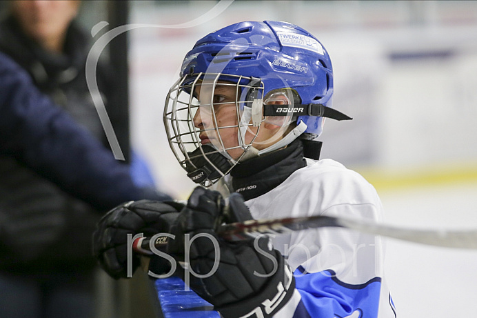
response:
<svg viewBox="0 0 477 318"><path fill-rule="evenodd" d="M194 127L190 121L194 117L193 108L199 107L194 106L193 102L196 84L201 83L203 86L209 82L215 87L219 81L236 85L236 108L237 114L240 114L237 122L241 127L239 143L245 152L252 144L245 143L244 137L246 126L251 125L251 121L253 126L259 126L265 117L283 115L296 121L299 129L290 132L290 137L283 138L274 148L269 149L274 150L286 146L298 135L318 137L323 130L323 117L350 119L332 109L332 62L327 50L316 37L303 28L281 21L245 21L232 24L207 34L187 52L180 79L172 86L166 100L164 122L170 146L185 170L193 172L191 179L195 178L194 181L202 180L198 177L202 172L194 170L197 165L192 155L201 161L205 158L205 161L212 165L210 170L214 172L202 173L208 181L214 179L210 176L215 172L216 177L230 172L239 160L230 158L227 152L223 151L227 150L224 147L219 149L220 147L214 146L212 148L216 150L205 151L199 135L192 134ZM294 95L290 105L287 105L290 107L263 103L264 98L279 90L291 91ZM182 97L184 92L190 97ZM212 100L208 103L215 104ZM179 115L181 111L185 112L182 117ZM187 129L191 135L186 132ZM185 141L187 136L190 138ZM223 142L221 144L223 145ZM194 146L194 151L188 151L188 145ZM182 152L182 158L179 152ZM210 161L211 152L220 153L228 162Z"/></svg>

